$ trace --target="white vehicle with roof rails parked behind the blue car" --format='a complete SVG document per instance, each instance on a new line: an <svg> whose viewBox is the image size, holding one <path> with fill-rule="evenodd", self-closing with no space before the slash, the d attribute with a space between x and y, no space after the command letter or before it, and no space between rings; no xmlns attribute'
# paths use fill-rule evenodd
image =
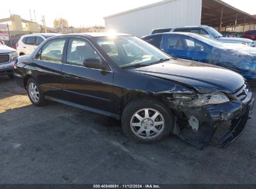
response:
<svg viewBox="0 0 256 189"><path fill-rule="evenodd" d="M154 29L154 30L157 30L157 29ZM151 32L151 34L154 32L154 30ZM227 44L245 44L245 45L248 45L249 47L255 47L253 40L237 38L237 37L223 37L223 35L217 32L214 28L209 27L207 25L175 27L175 28L173 27L173 28L169 28L168 30L169 30L168 32L191 32L194 34L204 35L211 39L219 40L220 42L227 43ZM158 33L164 33L164 32L158 31Z"/></svg>

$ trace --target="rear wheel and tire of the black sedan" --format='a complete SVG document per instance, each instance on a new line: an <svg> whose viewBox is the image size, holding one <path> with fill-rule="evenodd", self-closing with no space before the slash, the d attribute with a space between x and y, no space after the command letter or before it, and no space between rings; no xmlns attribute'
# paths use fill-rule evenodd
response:
<svg viewBox="0 0 256 189"><path fill-rule="evenodd" d="M34 78L30 78L27 81L27 95L31 100L31 103L35 106L45 106L47 101L44 99L44 94L40 90L39 84Z"/></svg>

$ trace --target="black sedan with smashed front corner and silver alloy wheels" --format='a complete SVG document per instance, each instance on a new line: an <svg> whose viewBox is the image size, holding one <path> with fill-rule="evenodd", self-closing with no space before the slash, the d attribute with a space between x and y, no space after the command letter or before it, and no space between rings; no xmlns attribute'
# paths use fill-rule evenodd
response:
<svg viewBox="0 0 256 189"><path fill-rule="evenodd" d="M174 60L137 37L72 34L45 40L14 64L32 104L53 100L121 119L135 142L170 133L203 148L220 122L228 145L244 130L254 103L244 78L225 68Z"/></svg>

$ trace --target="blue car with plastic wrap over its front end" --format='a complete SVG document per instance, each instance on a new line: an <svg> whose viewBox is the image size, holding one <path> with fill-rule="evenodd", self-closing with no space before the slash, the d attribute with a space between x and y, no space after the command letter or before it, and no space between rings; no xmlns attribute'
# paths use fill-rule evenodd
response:
<svg viewBox="0 0 256 189"><path fill-rule="evenodd" d="M176 58L229 68L256 81L256 48L217 42L192 33L163 33L142 38Z"/></svg>

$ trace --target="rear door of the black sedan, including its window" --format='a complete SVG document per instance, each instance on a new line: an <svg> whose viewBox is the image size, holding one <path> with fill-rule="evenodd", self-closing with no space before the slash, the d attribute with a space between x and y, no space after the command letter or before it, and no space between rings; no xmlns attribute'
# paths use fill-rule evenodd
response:
<svg viewBox="0 0 256 189"><path fill-rule="evenodd" d="M36 79L45 96L62 99L62 61L66 39L49 40L34 57L31 70L36 73Z"/></svg>

